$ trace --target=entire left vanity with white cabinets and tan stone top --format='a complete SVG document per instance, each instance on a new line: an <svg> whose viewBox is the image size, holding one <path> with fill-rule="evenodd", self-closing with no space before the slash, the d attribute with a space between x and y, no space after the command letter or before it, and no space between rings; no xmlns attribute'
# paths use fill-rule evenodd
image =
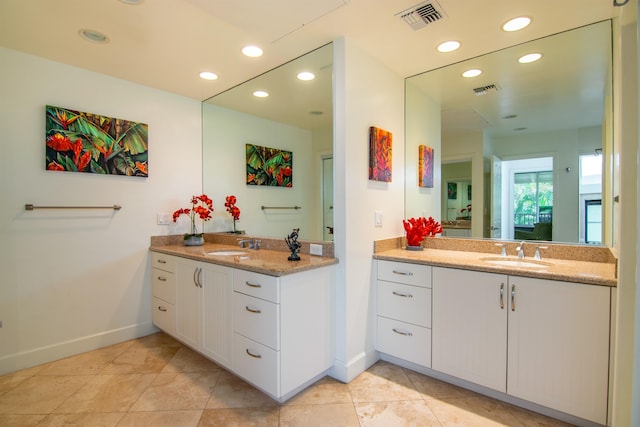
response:
<svg viewBox="0 0 640 427"><path fill-rule="evenodd" d="M152 244L153 323L283 402L333 365L337 260L238 249Z"/></svg>

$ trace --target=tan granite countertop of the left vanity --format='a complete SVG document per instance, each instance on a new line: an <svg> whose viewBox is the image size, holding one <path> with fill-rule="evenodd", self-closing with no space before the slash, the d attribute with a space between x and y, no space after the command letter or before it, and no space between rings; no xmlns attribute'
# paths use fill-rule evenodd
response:
<svg viewBox="0 0 640 427"><path fill-rule="evenodd" d="M205 242L202 246L184 246L181 243L152 244L149 250L276 277L338 263L336 258L306 254L300 254L300 261L289 261L287 257L291 255L290 252L271 249L241 249L238 245L210 242ZM207 255L207 252L220 250L241 250L246 252L246 255Z"/></svg>

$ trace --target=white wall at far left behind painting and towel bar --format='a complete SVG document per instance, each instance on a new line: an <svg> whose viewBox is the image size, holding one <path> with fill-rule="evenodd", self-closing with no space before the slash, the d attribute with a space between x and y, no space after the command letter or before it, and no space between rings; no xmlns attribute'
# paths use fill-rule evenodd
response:
<svg viewBox="0 0 640 427"><path fill-rule="evenodd" d="M0 48L0 374L151 325L156 212L201 191L200 102ZM45 105L149 125L149 177L45 170ZM122 210L26 212L24 205Z"/></svg>

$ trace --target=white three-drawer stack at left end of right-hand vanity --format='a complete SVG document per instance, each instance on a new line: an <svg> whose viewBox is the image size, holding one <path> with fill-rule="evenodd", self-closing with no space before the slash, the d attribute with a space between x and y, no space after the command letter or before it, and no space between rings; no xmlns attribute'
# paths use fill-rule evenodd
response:
<svg viewBox="0 0 640 427"><path fill-rule="evenodd" d="M431 366L431 267L378 261L376 349Z"/></svg>

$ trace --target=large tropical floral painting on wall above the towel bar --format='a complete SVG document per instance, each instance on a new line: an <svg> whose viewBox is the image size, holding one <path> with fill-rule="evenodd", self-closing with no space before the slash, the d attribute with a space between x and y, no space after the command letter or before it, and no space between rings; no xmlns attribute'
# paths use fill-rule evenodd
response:
<svg viewBox="0 0 640 427"><path fill-rule="evenodd" d="M144 123L46 106L46 168L147 177Z"/></svg>

